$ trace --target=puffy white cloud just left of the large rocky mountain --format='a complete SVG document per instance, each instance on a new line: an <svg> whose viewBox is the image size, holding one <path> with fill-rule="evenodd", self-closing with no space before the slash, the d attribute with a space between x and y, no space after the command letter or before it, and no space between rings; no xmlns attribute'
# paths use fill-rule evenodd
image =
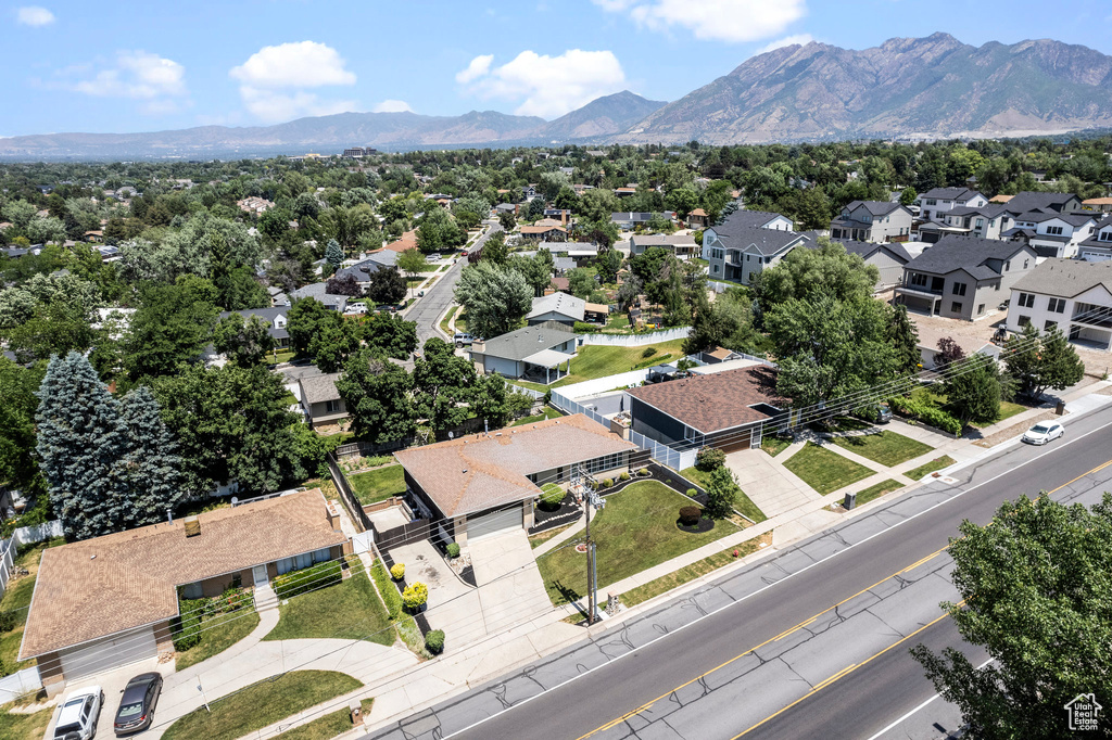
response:
<svg viewBox="0 0 1112 740"><path fill-rule="evenodd" d="M520 100L520 116L556 118L595 98L627 87L625 71L610 51L569 49L558 57L523 51L502 67L476 61L456 76L466 90L481 99ZM471 74L483 69L481 73Z"/></svg>

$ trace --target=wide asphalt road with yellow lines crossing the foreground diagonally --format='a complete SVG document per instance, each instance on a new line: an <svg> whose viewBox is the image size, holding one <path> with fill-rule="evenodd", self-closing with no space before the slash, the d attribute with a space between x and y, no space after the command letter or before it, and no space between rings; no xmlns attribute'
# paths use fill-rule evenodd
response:
<svg viewBox="0 0 1112 740"><path fill-rule="evenodd" d="M1064 443L1010 447L962 471L951 486L931 483L922 498L901 497L856 518L840 529L848 538L854 527L858 537L836 557L812 546L826 542L836 550L837 530L724 577L705 589L705 603L677 600L705 614L688 619L683 627L689 629L675 620L669 627L667 614L677 609L663 607L434 707L424 716L424 727L436 727L427 737L702 740L748 731L867 738L933 694L906 649L919 641L959 644L937 604L956 593L949 558L940 551L961 521L987 522L1001 501L1024 492L1063 484L1060 496L1112 490L1105 482L1112 467L1086 474L1112 457L1112 426L1104 424L1112 424L1108 407L1070 420ZM916 498L937 504L921 507L907 521ZM862 539L862 528L875 531ZM716 590L723 598L714 603ZM635 632L642 623L659 639ZM497 701L483 703L484 697ZM931 711L944 713L944 702L934 704ZM931 717L924 712L916 720L930 729ZM375 737L426 737L404 730L395 726Z"/></svg>

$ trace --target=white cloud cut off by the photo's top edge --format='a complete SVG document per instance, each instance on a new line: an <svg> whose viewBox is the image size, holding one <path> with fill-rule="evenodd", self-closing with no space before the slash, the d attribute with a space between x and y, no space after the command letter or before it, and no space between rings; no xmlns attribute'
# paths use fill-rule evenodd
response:
<svg viewBox="0 0 1112 740"><path fill-rule="evenodd" d="M805 0L594 0L608 12L628 12L654 31L686 28L696 39L758 41L781 33L807 13Z"/></svg>

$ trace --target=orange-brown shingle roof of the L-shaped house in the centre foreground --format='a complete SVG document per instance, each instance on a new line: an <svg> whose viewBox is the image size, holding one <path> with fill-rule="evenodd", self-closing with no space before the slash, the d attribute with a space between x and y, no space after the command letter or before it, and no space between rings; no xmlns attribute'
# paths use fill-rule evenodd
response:
<svg viewBox="0 0 1112 740"><path fill-rule="evenodd" d="M537 496L526 478L636 449L582 413L416 447L395 457L445 517Z"/></svg>

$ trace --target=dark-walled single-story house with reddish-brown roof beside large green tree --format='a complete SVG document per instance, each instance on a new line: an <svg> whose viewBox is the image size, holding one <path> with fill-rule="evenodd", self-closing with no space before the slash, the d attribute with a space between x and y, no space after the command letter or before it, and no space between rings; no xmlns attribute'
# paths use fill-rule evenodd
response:
<svg viewBox="0 0 1112 740"><path fill-rule="evenodd" d="M764 423L787 408L776 393L775 370L763 364L642 386L626 394L635 432L665 444L725 452L759 447Z"/></svg>

